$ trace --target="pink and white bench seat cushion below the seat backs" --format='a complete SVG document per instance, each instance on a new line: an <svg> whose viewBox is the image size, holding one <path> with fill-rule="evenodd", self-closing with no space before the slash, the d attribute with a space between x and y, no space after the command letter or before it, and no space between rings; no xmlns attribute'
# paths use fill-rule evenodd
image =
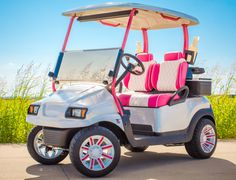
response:
<svg viewBox="0 0 236 180"><path fill-rule="evenodd" d="M158 108L168 104L172 93L148 94L143 92L118 94L123 106ZM178 99L176 96L174 99Z"/></svg>

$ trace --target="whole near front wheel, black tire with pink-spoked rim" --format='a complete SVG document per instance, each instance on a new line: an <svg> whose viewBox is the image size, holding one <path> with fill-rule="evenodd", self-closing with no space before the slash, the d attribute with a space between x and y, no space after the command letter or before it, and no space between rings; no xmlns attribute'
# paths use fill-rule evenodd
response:
<svg viewBox="0 0 236 180"><path fill-rule="evenodd" d="M71 140L70 159L75 168L86 176L105 176L119 162L119 140L104 127L82 129Z"/></svg>

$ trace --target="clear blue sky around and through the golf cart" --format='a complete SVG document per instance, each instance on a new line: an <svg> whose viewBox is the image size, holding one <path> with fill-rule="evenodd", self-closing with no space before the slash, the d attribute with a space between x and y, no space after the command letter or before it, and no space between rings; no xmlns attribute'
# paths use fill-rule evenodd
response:
<svg viewBox="0 0 236 180"><path fill-rule="evenodd" d="M115 0L114 0L115 1ZM22 64L31 61L54 65L61 49L69 19L63 11L99 4L105 0L1 0L0 1L0 77L13 76ZM199 26L190 28L190 36L200 36L198 63L225 68L236 63L235 0L137 0L138 2L181 11L197 17ZM118 47L124 29L95 23L76 23L69 49ZM182 30L150 32L150 52L157 61L163 53L182 49ZM141 40L137 32L129 38L127 51ZM10 78L11 79L11 78Z"/></svg>

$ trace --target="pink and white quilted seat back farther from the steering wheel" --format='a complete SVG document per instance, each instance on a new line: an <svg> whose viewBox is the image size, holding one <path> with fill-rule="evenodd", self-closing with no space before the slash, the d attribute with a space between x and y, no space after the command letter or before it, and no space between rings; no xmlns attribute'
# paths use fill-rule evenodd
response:
<svg viewBox="0 0 236 180"><path fill-rule="evenodd" d="M185 85L188 63L182 53L167 53L165 61L153 65L152 87L158 91L176 91Z"/></svg>

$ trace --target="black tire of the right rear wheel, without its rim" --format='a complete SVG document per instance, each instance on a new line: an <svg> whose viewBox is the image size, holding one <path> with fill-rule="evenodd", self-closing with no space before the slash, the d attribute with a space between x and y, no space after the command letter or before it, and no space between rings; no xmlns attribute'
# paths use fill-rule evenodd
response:
<svg viewBox="0 0 236 180"><path fill-rule="evenodd" d="M200 141L201 132L206 125L210 125L215 131L215 143L214 143L215 145L210 152L204 152L203 148L201 147L201 141ZM198 122L194 130L192 140L188 143L185 143L185 149L188 152L188 154L193 158L207 159L210 158L214 153L216 145L217 145L217 132L215 124L211 120L204 118Z"/></svg>

